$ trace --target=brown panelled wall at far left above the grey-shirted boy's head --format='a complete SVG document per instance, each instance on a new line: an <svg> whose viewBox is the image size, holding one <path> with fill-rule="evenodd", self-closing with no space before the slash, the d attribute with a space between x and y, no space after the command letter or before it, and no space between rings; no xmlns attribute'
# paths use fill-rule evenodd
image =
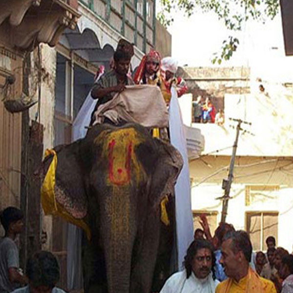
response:
<svg viewBox="0 0 293 293"><path fill-rule="evenodd" d="M3 41L0 32L0 40ZM9 49L1 48L0 85L6 76L13 75L15 83L0 88L0 210L20 205L21 184L21 113L11 114L4 107L4 100L17 99L22 90L22 59Z"/></svg>

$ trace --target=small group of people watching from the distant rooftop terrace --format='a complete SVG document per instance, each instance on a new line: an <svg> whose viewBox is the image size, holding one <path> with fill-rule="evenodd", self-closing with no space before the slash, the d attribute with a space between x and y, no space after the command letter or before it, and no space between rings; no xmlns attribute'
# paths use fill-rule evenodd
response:
<svg viewBox="0 0 293 293"><path fill-rule="evenodd" d="M193 122L194 123L215 123L219 126L224 125L225 116L222 109L216 113L215 106L207 97L205 102L202 96L198 96L196 101L192 102Z"/></svg>

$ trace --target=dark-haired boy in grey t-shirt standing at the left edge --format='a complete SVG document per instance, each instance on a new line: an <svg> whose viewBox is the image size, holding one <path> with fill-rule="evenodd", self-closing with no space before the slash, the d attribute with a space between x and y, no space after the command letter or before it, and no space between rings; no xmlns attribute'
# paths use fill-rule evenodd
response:
<svg viewBox="0 0 293 293"><path fill-rule="evenodd" d="M8 207L0 214L0 222L5 230L0 240L0 293L12 292L19 285L27 283L19 269L19 252L14 242L21 233L22 220L22 211L15 207Z"/></svg>

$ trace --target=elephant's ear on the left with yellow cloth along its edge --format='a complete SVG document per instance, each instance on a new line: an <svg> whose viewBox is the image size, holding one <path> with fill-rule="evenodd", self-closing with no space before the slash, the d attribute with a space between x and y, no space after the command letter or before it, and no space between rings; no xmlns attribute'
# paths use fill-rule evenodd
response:
<svg viewBox="0 0 293 293"><path fill-rule="evenodd" d="M79 155L81 142L57 146L50 155L46 156L43 161L45 176L41 194L45 213L56 213L78 226L82 225L75 223L74 220L79 222L87 213Z"/></svg>

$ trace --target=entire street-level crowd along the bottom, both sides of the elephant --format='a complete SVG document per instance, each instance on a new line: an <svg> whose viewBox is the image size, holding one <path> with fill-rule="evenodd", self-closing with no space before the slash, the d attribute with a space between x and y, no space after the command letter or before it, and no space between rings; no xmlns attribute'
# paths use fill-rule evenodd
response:
<svg viewBox="0 0 293 293"><path fill-rule="evenodd" d="M0 293L64 293L56 287L60 268L48 251L37 251L20 269L15 239L23 226L23 213L8 207L0 214L5 235L0 239ZM293 255L266 239L267 251L252 251L247 232L220 223L212 236L205 215L194 232L184 269L172 274L161 293L291 293Z"/></svg>

